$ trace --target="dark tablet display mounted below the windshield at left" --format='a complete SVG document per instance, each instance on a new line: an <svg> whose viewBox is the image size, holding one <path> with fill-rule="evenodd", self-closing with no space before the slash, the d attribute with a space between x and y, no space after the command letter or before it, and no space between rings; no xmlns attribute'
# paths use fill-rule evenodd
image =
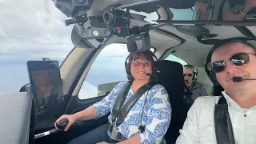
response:
<svg viewBox="0 0 256 144"><path fill-rule="evenodd" d="M28 61L27 68L37 112L64 101L58 61Z"/></svg>

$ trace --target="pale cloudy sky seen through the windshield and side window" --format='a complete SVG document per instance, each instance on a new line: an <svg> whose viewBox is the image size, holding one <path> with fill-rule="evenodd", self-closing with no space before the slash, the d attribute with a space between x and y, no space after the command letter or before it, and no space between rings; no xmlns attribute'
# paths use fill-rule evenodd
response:
<svg viewBox="0 0 256 144"><path fill-rule="evenodd" d="M18 92L29 83L27 61L50 58L62 64L74 47L73 25L65 26L66 19L50 0L0 0L0 95ZM100 83L125 80L127 55L126 45L122 44L102 50L87 74L81 95L89 90L94 90L90 95L97 94Z"/></svg>

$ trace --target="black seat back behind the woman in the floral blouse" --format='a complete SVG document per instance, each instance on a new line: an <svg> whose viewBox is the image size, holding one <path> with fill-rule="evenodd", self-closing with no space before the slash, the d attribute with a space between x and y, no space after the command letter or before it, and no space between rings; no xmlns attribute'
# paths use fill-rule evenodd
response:
<svg viewBox="0 0 256 144"><path fill-rule="evenodd" d="M189 110L189 107L185 106L182 101L185 88L183 66L178 62L159 60L158 71L159 84L166 88L172 107L170 127L165 138L168 144L173 144L179 136L179 130L182 129Z"/></svg>

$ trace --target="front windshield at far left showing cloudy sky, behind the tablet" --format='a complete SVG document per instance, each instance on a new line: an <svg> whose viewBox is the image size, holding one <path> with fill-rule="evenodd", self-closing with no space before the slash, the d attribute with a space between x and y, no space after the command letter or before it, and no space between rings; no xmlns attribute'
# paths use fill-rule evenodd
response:
<svg viewBox="0 0 256 144"><path fill-rule="evenodd" d="M26 62L58 60L73 49L66 15L46 0L0 2L0 95L29 83Z"/></svg>

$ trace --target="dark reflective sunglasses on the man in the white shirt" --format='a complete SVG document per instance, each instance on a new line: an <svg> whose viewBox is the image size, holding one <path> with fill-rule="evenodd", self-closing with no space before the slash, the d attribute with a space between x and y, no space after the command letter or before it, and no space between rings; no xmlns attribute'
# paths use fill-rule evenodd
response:
<svg viewBox="0 0 256 144"><path fill-rule="evenodd" d="M251 53L238 53L234 54L228 58L225 58L223 61L214 62L211 64L211 69L215 73L220 73L226 68L226 61L230 61L230 63L234 66L242 66L246 65L250 62L250 55ZM253 54L255 55L255 54Z"/></svg>

